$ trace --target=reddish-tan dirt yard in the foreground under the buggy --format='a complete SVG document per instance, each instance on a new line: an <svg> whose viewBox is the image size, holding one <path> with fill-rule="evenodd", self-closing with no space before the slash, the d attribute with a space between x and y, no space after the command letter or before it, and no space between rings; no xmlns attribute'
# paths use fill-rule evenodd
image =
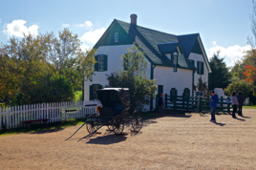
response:
<svg viewBox="0 0 256 170"><path fill-rule="evenodd" d="M148 119L139 134L88 134L79 126L0 137L0 169L256 169L256 110L245 117L168 115Z"/></svg>

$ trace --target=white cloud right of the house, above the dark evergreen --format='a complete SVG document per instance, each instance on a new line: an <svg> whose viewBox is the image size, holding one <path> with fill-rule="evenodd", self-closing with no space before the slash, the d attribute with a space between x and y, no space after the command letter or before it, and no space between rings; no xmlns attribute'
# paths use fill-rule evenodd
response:
<svg viewBox="0 0 256 170"><path fill-rule="evenodd" d="M220 57L224 57L224 62L227 67L232 67L235 64L236 60L241 60L242 57L245 55L245 51L248 51L251 49L249 45L245 47L241 47L239 45L229 46L227 48L224 48L222 46L217 45L216 41L212 42L213 46L208 50L208 57L211 58L214 53L217 53L217 51L220 51L219 54Z"/></svg>

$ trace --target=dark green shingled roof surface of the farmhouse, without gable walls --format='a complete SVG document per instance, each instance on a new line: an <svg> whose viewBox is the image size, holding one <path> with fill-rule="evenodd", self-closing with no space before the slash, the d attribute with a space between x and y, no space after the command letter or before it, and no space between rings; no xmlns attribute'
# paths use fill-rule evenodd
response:
<svg viewBox="0 0 256 170"><path fill-rule="evenodd" d="M178 56L178 67L183 69L195 70L195 66L187 59L188 54L194 47L196 34L190 34L191 36L177 36L170 33L158 32L151 29L143 28L138 25L129 24L123 21L114 19L106 32L96 43L95 48L101 45L104 41L104 37L111 31L114 26L122 28L124 32L129 34L129 41L135 42L141 51L143 51L151 62L152 65L160 65L167 67L174 67L172 61L164 54L160 52L159 44L177 44L181 47L181 54ZM191 39L190 39L191 37ZM193 44L194 42L194 44ZM185 47L183 47L185 46Z"/></svg>

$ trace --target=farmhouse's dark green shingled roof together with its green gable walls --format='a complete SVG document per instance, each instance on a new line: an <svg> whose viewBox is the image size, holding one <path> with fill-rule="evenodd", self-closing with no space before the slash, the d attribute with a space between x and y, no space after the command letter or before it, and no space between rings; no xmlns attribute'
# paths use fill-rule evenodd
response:
<svg viewBox="0 0 256 170"><path fill-rule="evenodd" d="M115 42L115 33L118 33L117 42ZM178 67L194 70L195 67L188 60L189 54L200 53L203 54L203 57L206 57L205 52L202 50L203 44L199 42L198 37L200 37L199 33L177 36L114 19L107 31L96 43L95 48L136 43L139 46L139 50L145 53L146 58L152 65L166 67L175 67L175 64L165 54L177 52L177 49L179 49ZM204 58L204 61L207 62L207 58L206 60Z"/></svg>

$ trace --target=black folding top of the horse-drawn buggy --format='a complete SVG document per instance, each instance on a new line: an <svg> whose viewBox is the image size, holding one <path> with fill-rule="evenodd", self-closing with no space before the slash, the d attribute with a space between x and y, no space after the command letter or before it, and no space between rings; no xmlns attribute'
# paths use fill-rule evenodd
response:
<svg viewBox="0 0 256 170"><path fill-rule="evenodd" d="M96 91L97 98L104 108L112 113L128 114L130 109L130 91L128 88L104 88Z"/></svg>

